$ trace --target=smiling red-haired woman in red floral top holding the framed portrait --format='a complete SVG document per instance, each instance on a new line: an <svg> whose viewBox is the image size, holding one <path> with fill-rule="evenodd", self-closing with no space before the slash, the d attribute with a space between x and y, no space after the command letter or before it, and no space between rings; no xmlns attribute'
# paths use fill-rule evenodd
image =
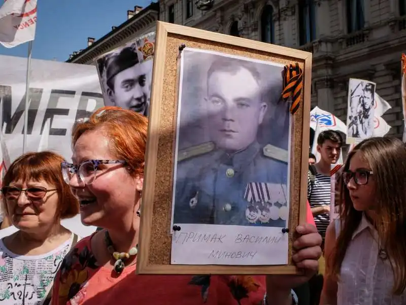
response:
<svg viewBox="0 0 406 305"><path fill-rule="evenodd" d="M303 276L136 275L147 124L137 112L104 107L73 130L73 164L62 163L63 176L80 201L82 222L105 229L65 257L52 304L291 304L291 288L318 267L321 237L311 225L299 226L294 242Z"/></svg>

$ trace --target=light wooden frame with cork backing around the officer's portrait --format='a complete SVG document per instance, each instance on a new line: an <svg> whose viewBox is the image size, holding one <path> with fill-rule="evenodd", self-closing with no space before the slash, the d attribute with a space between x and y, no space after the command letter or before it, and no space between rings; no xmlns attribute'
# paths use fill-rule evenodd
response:
<svg viewBox="0 0 406 305"><path fill-rule="evenodd" d="M288 257L286 265L171 264L172 198L178 115L180 46L276 62L298 63L303 87L291 116ZM295 227L306 222L312 54L300 50L157 22L151 112L148 127L137 273L139 274L296 274L291 260ZM282 75L281 75L282 78ZM287 103L281 101L281 103ZM289 108L287 108L289 109ZM286 158L288 160L288 158ZM288 162L288 163L289 163ZM282 232L284 232L282 230ZM284 232L285 233L285 232Z"/></svg>

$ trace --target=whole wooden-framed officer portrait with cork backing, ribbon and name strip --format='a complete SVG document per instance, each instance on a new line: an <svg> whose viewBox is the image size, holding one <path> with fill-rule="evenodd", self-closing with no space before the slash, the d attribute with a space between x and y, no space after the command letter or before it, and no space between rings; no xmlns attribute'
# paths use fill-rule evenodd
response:
<svg viewBox="0 0 406 305"><path fill-rule="evenodd" d="M164 22L156 35L137 272L297 273L311 53Z"/></svg>

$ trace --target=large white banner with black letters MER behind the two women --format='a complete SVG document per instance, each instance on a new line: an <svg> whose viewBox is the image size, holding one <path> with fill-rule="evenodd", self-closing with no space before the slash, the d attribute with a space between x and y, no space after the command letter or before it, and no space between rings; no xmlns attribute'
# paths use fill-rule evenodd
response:
<svg viewBox="0 0 406 305"><path fill-rule="evenodd" d="M22 154L27 59L0 55L0 122L11 162ZM32 59L27 149L44 149L42 131L49 120L48 149L71 161L71 132L77 119L103 107L95 66Z"/></svg>

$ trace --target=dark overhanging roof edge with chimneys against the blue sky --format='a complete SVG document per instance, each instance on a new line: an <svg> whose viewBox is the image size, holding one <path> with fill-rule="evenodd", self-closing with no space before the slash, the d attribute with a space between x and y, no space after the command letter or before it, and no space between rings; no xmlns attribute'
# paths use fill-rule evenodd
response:
<svg viewBox="0 0 406 305"><path fill-rule="evenodd" d="M87 48L76 51L66 60L67 63L92 65L93 60L137 37L155 31L159 18L159 4L151 3L148 7L134 7L127 11L127 20L119 26L113 26L112 31L98 40L89 37Z"/></svg>

